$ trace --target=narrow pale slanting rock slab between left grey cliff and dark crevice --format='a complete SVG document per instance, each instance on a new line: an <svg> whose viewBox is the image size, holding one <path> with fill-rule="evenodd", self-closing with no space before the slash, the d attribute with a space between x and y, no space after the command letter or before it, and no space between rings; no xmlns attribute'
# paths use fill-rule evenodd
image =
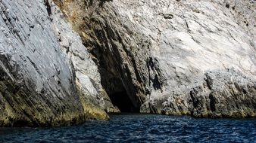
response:
<svg viewBox="0 0 256 143"><path fill-rule="evenodd" d="M64 19L65 16L58 6L53 2L51 4L52 13L56 14L55 17L52 17L55 34L58 35L62 53L71 62L70 68L73 68L76 86L95 105L108 112L119 112L101 86L101 75L98 72L98 66L92 60L94 57L88 53L80 36L73 32L72 26Z"/></svg>

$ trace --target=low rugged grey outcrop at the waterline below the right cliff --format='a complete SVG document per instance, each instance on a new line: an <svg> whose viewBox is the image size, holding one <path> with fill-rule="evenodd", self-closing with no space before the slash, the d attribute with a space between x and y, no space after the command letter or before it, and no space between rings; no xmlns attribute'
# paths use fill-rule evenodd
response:
<svg viewBox="0 0 256 143"><path fill-rule="evenodd" d="M208 84L211 78L211 87ZM192 90L167 96L163 114L189 114L194 117L254 117L255 81L233 71L209 71L204 82ZM156 99L158 101L158 99Z"/></svg>

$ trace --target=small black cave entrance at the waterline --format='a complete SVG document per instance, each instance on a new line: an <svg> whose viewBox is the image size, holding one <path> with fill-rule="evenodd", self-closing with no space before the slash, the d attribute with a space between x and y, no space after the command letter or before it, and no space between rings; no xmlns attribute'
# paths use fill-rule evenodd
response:
<svg viewBox="0 0 256 143"><path fill-rule="evenodd" d="M120 112L139 113L139 108L133 105L126 91L112 93L109 97L113 105L119 108Z"/></svg>

